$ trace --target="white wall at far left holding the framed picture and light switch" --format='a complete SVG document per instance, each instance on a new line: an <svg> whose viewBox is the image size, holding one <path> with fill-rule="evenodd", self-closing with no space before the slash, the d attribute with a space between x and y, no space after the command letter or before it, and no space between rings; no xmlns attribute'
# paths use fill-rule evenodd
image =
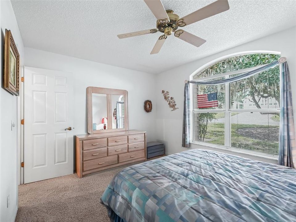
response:
<svg viewBox="0 0 296 222"><path fill-rule="evenodd" d="M1 88L0 88L0 221L14 221L18 209L18 104L19 97L11 95L3 88L3 48L5 29L10 29L20 54L20 65L24 64L24 46L19 27L10 1L1 1ZM16 127L11 131L11 121ZM7 208L6 198L10 196Z"/></svg>

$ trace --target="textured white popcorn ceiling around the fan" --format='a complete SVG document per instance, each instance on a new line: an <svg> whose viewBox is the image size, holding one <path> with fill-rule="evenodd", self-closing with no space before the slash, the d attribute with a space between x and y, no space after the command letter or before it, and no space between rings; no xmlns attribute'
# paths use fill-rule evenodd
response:
<svg viewBox="0 0 296 222"><path fill-rule="evenodd" d="M180 17L214 0L163 0ZM117 34L152 29L156 19L142 0L12 1L24 45L81 59L160 73L296 25L295 0L229 0L230 10L183 29L207 42L201 47L162 33L118 39Z"/></svg>

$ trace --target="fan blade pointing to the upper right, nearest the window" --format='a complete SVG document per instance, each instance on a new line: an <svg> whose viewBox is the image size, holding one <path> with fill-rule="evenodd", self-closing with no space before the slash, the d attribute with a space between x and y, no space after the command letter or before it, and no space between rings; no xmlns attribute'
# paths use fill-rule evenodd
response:
<svg viewBox="0 0 296 222"><path fill-rule="evenodd" d="M229 9L229 4L227 0L218 0L209 4L191 14L188 14L181 19L178 19L177 25L179 27L184 27L192 23L198 22L200 20L206 19L213 15L219 14L221 12L227 11Z"/></svg>

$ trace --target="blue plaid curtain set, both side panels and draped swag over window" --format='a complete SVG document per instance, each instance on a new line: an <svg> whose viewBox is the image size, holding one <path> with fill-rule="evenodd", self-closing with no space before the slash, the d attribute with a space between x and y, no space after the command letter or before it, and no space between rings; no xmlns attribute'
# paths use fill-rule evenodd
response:
<svg viewBox="0 0 296 222"><path fill-rule="evenodd" d="M288 64L285 57L272 63L261 66L241 75L230 77L222 80L209 80L209 81L185 81L184 88L184 112L183 112L183 135L182 146L190 146L190 94L189 83L200 85L220 85L225 83L232 83L245 78L259 74L269 68L273 68L281 64L281 112L280 112L280 136L279 136L279 155L278 164L287 167L296 167L296 142L295 142L295 129L293 118L293 107L291 97L291 83Z"/></svg>

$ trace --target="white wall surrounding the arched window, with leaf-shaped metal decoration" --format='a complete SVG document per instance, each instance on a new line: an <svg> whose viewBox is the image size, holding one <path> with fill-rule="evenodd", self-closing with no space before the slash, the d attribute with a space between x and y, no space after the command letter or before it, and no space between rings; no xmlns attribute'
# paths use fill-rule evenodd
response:
<svg viewBox="0 0 296 222"><path fill-rule="evenodd" d="M184 95L184 81L189 80L189 76L195 72L199 67L211 62L219 57L229 55L241 51L280 51L282 56L287 57L287 62L290 68L291 82L296 83L296 27L287 29L285 31L266 36L255 41L245 43L243 45L231 48L229 50L205 57L200 60L185 64L178 68L162 72L157 75L157 135L160 141L163 141L166 146L166 153L173 154L187 150L182 147L182 124L183 124L183 95ZM198 53L198 48L196 49ZM171 112L167 102L161 95L161 90L169 91L171 96L175 98L177 107L179 109ZM296 116L296 87L292 84L292 97L294 106L294 117ZM296 121L295 121L296 123ZM220 152L240 155L247 158L258 159L266 162L277 163L276 160L259 158L249 156L246 154L233 153L231 151L213 149L209 147L191 144L191 149L211 149Z"/></svg>

